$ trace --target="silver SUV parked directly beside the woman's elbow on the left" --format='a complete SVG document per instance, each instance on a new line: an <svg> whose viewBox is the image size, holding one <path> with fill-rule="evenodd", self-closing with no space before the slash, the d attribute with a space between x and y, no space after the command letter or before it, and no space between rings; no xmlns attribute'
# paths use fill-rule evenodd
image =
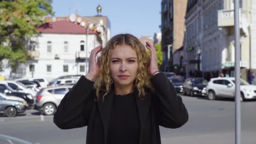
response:
<svg viewBox="0 0 256 144"><path fill-rule="evenodd" d="M34 109L43 111L44 115L53 115L59 106L61 99L70 91L72 85L42 88L37 93Z"/></svg>

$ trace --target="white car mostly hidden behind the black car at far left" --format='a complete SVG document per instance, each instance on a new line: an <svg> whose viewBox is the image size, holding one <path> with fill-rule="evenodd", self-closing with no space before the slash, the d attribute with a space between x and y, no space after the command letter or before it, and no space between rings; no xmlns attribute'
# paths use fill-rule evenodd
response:
<svg viewBox="0 0 256 144"><path fill-rule="evenodd" d="M16 90L18 92L29 93L32 96L36 96L36 94L37 94L36 91L33 91L30 88L27 88L26 85L23 85L22 83L17 83L15 81L11 81L11 80L5 80L3 82L6 82L13 90Z"/></svg>

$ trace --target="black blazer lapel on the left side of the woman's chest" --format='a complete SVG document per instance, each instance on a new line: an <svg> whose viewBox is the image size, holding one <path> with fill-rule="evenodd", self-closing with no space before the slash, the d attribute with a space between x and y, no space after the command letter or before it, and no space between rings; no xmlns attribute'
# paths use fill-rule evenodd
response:
<svg viewBox="0 0 256 144"><path fill-rule="evenodd" d="M107 144L107 132L109 127L109 116L113 101L114 91L111 91L104 97L104 101L102 101L103 95L100 96L98 103L99 113L101 116L101 120L104 128L104 143Z"/></svg>

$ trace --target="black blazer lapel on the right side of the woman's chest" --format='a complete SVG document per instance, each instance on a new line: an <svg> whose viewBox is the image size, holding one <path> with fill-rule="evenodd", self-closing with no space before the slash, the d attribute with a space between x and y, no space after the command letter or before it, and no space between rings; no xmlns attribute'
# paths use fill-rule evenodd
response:
<svg viewBox="0 0 256 144"><path fill-rule="evenodd" d="M145 130L145 121L147 119L147 115L149 114L149 107L151 104L151 96L146 94L146 99L139 98L139 92L135 88L136 92L136 103L139 113L139 123L140 123L140 132L139 132L139 144L141 144L142 134Z"/></svg>

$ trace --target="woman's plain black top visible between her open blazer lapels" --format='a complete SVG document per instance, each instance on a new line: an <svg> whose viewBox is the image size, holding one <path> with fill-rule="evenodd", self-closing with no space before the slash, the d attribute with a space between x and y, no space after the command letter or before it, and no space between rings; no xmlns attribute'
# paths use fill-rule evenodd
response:
<svg viewBox="0 0 256 144"><path fill-rule="evenodd" d="M107 141L108 144L138 144L139 116L134 92L114 94Z"/></svg>

